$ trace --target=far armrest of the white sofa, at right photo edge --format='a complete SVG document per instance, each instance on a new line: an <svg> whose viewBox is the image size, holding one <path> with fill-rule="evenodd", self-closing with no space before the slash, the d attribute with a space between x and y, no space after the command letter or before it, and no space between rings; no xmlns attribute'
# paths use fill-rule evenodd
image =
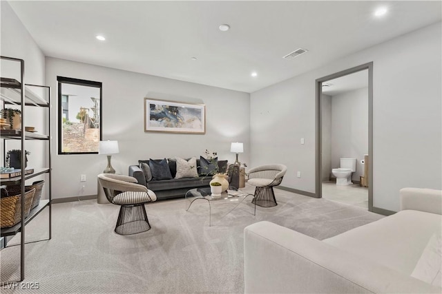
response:
<svg viewBox="0 0 442 294"><path fill-rule="evenodd" d="M401 210L412 209L442 214L442 191L421 188L403 188L401 194Z"/></svg>

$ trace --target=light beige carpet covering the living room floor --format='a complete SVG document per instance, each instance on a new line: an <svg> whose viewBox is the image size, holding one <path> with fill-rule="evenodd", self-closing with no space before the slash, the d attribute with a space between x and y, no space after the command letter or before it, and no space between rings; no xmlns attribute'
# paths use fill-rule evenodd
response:
<svg viewBox="0 0 442 294"><path fill-rule="evenodd" d="M253 192L253 187L247 187ZM26 245L26 280L38 290L2 293L243 293L244 227L269 220L320 240L382 218L364 209L275 189L278 206L251 198L209 227L208 204L184 199L146 205L152 229L114 233L119 207L96 200L52 205L52 240ZM222 207L213 207L225 213ZM47 234L47 209L26 227ZM18 236L17 236L18 237ZM19 240L14 238L10 244ZM1 281L19 277L19 246L1 253ZM20 285L19 285L20 286Z"/></svg>

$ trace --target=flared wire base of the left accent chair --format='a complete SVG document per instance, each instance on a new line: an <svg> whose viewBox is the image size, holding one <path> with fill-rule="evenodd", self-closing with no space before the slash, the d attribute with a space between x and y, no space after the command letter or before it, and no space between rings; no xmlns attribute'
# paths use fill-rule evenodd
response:
<svg viewBox="0 0 442 294"><path fill-rule="evenodd" d="M122 205L119 209L115 233L119 235L132 235L142 233L151 229L147 218L144 204Z"/></svg>

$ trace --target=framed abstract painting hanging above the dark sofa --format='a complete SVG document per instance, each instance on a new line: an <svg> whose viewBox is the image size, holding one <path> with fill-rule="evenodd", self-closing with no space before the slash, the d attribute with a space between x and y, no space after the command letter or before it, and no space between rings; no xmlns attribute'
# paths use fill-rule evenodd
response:
<svg viewBox="0 0 442 294"><path fill-rule="evenodd" d="M144 132L206 133L206 105L144 98Z"/></svg>

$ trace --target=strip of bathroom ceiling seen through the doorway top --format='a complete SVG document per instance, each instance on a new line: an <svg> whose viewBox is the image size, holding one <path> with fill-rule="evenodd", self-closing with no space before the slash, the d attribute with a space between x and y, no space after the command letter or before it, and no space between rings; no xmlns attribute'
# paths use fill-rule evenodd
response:
<svg viewBox="0 0 442 294"><path fill-rule="evenodd" d="M361 72L354 72L326 81L323 83L323 94L335 96L365 87L368 87L368 70L361 70Z"/></svg>

